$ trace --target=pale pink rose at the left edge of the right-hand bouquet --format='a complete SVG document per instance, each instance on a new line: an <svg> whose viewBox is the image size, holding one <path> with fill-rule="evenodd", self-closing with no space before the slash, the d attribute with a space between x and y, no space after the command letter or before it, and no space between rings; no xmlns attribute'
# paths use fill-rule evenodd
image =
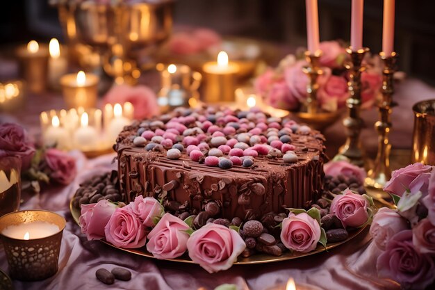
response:
<svg viewBox="0 0 435 290"><path fill-rule="evenodd" d="M405 229L409 229L406 219L397 214L397 211L382 207L373 217L372 225L370 225L370 235L377 247L385 250L386 244L391 237Z"/></svg>

